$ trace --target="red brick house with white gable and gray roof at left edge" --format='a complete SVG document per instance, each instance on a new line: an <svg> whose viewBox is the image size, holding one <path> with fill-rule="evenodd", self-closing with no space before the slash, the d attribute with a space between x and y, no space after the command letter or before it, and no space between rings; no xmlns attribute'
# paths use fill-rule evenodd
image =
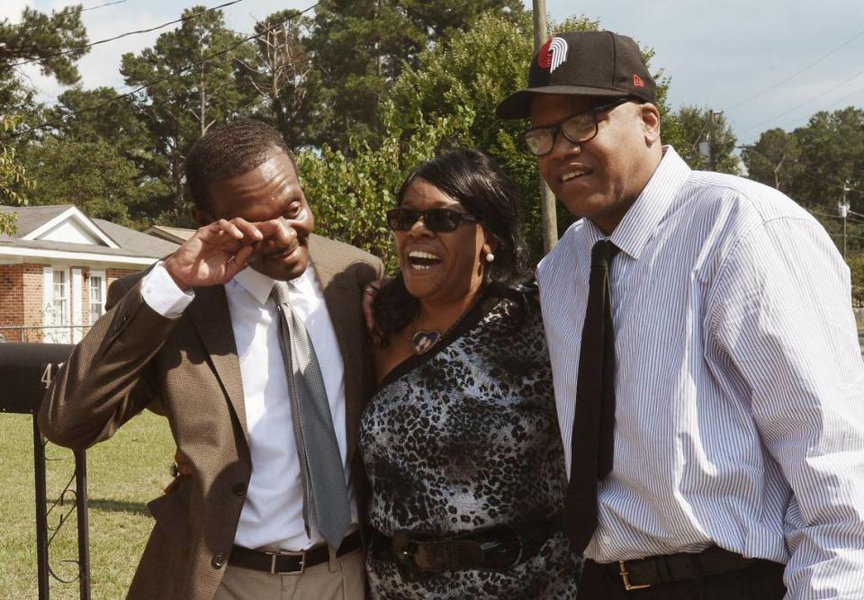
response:
<svg viewBox="0 0 864 600"><path fill-rule="evenodd" d="M104 312L111 282L174 252L176 244L71 205L8 207L0 235L0 336L7 342L74 343Z"/></svg>

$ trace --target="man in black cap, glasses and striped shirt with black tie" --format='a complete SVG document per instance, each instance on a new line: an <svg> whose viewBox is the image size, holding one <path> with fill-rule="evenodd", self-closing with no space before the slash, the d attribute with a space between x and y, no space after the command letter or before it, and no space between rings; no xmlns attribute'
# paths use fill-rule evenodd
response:
<svg viewBox="0 0 864 600"><path fill-rule="evenodd" d="M864 598L864 363L831 238L663 147L630 38L556 35L528 81L498 114L530 119L583 218L537 268L580 597Z"/></svg>

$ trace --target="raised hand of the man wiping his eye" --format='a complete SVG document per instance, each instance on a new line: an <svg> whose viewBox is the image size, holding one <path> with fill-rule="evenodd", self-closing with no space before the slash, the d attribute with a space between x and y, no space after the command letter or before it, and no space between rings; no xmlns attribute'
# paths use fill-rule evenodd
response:
<svg viewBox="0 0 864 600"><path fill-rule="evenodd" d="M195 232L165 260L165 268L183 291L221 285L246 268L269 237L284 237L281 219L250 223L220 219Z"/></svg>

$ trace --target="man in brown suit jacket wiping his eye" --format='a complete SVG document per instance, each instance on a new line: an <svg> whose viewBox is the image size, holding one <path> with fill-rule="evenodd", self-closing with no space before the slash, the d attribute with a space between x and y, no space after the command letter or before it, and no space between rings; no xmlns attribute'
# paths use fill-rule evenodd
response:
<svg viewBox="0 0 864 600"><path fill-rule="evenodd" d="M112 308L49 390L41 430L87 448L144 408L166 416L191 473L149 504L156 524L130 598L362 598L355 502L338 549L307 512L297 392L270 294L286 288L309 332L353 498L357 423L374 390L360 300L383 265L311 234L293 158L262 123L211 130L186 170L201 228L112 285ZM306 443L315 452L320 441Z"/></svg>

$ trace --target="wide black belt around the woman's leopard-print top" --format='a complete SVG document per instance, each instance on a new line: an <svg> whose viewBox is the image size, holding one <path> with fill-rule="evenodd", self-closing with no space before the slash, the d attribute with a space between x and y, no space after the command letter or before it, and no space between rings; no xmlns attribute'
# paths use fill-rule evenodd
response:
<svg viewBox="0 0 864 600"><path fill-rule="evenodd" d="M505 570L536 554L561 526L556 516L450 535L401 531L387 536L370 528L369 551L375 559L396 563L407 580L444 571Z"/></svg>

